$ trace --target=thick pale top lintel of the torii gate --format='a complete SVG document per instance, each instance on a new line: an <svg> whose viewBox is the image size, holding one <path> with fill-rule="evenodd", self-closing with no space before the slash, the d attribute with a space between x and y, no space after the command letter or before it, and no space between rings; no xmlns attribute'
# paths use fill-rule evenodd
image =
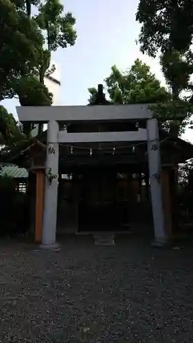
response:
<svg viewBox="0 0 193 343"><path fill-rule="evenodd" d="M16 106L19 121L47 123L49 120L106 121L147 119L152 117L149 104L99 106Z"/></svg>

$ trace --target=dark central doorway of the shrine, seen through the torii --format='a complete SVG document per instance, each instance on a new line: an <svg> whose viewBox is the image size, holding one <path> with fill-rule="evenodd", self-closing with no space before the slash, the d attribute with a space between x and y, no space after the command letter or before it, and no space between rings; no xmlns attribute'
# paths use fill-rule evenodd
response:
<svg viewBox="0 0 193 343"><path fill-rule="evenodd" d="M114 230L116 213L116 174L102 169L84 172L79 187L79 230Z"/></svg>

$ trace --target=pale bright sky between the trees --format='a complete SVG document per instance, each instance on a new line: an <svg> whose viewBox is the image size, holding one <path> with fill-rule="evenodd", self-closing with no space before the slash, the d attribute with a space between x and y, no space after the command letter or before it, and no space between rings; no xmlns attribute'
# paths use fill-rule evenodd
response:
<svg viewBox="0 0 193 343"><path fill-rule="evenodd" d="M136 58L150 65L152 73L165 85L159 61L141 54L135 43L140 30L135 21L138 0L61 2L65 12L72 12L76 18L78 38L73 47L58 49L52 54L56 64L55 76L61 82L56 105L86 105L89 99L87 88L104 83L113 64L125 71ZM15 99L3 102L14 115L16 105ZM189 131L185 132L185 139L193 136Z"/></svg>

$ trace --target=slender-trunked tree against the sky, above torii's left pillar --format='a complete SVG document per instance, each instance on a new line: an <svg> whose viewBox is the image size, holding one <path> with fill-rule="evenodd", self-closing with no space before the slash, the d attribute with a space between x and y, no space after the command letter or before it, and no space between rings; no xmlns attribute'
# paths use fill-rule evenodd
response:
<svg viewBox="0 0 193 343"><path fill-rule="evenodd" d="M21 106L50 106L52 105L52 94L49 93L44 84L45 76L51 75L55 66L50 65L52 51L58 47L66 48L74 45L76 41L75 19L71 13L63 14L63 5L58 0L12 0L18 12L27 15L27 20L35 22L43 34L44 47L41 47L36 67L30 75L24 75L15 86L16 94L19 96ZM32 5L36 6L38 14L32 16ZM25 134L29 135L31 125L23 126ZM39 125L38 132L41 133L43 126Z"/></svg>

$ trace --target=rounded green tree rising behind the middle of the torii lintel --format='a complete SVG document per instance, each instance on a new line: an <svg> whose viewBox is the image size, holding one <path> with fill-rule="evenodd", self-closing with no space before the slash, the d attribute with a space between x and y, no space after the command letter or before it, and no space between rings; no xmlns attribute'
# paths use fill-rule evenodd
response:
<svg viewBox="0 0 193 343"><path fill-rule="evenodd" d="M166 88L150 72L150 67L139 59L124 73L114 65L104 82L114 104L155 104L170 98ZM97 90L89 88L89 93L91 102Z"/></svg>

